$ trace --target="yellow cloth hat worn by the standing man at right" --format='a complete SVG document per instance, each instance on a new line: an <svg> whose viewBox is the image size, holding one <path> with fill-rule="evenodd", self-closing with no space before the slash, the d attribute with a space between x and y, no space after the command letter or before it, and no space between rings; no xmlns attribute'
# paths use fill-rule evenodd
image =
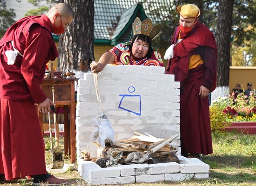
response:
<svg viewBox="0 0 256 186"><path fill-rule="evenodd" d="M177 6L176 10L183 18L197 18L200 15L200 10L193 4Z"/></svg>

